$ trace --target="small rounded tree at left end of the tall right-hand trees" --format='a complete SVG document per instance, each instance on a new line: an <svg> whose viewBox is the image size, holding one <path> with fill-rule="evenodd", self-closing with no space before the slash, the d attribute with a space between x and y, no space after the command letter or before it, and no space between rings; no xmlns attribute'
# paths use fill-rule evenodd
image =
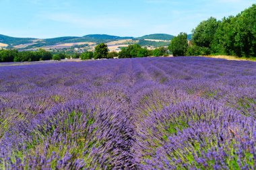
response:
<svg viewBox="0 0 256 170"><path fill-rule="evenodd" d="M172 51L173 56L185 56L188 46L187 34L181 33L172 39L168 49Z"/></svg>

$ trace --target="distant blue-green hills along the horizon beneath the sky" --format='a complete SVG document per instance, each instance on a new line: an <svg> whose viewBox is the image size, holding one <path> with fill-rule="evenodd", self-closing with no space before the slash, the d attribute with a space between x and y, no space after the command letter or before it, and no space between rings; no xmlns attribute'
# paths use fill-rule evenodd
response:
<svg viewBox="0 0 256 170"><path fill-rule="evenodd" d="M65 36L59 38L15 38L11 36L5 36L0 34L0 44L2 46L7 46L7 48L39 48L44 46L53 46L55 44L65 44L65 43L79 43L79 42L90 42L94 44L107 43L118 40L134 40L143 43L143 45L160 46L166 44L172 40L174 36L169 34L150 34L141 37L121 37L121 36L110 36L106 34L90 34L82 37L77 36ZM188 39L191 39L191 34L189 34ZM158 40L157 42L154 40ZM152 43L154 42L154 43ZM1 46L1 45L0 45Z"/></svg>

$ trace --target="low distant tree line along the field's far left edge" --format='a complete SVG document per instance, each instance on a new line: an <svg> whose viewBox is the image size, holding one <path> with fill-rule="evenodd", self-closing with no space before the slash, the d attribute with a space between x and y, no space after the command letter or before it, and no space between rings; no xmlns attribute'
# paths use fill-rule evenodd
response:
<svg viewBox="0 0 256 170"><path fill-rule="evenodd" d="M39 60L61 60L65 58L81 58L82 60L101 59L101 58L134 58L146 56L168 56L168 49L165 47L148 50L142 48L139 44L129 45L121 48L120 52L109 52L108 46L104 43L98 44L94 52L87 51L74 54L65 54L65 52L49 52L44 49L37 51L18 51L18 50L0 50L0 62L24 62Z"/></svg>

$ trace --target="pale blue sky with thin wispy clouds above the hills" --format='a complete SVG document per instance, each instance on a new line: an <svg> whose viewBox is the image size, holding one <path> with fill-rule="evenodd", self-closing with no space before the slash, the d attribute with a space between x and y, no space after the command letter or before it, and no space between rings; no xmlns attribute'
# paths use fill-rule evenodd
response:
<svg viewBox="0 0 256 170"><path fill-rule="evenodd" d="M53 38L110 34L190 33L208 17L222 19L255 0L0 0L0 34Z"/></svg>

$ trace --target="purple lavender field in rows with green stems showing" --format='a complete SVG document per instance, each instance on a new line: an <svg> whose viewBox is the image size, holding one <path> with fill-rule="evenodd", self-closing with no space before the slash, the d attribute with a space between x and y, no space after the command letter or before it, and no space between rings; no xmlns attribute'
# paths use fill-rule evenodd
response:
<svg viewBox="0 0 256 170"><path fill-rule="evenodd" d="M256 62L0 67L0 169L254 169Z"/></svg>

